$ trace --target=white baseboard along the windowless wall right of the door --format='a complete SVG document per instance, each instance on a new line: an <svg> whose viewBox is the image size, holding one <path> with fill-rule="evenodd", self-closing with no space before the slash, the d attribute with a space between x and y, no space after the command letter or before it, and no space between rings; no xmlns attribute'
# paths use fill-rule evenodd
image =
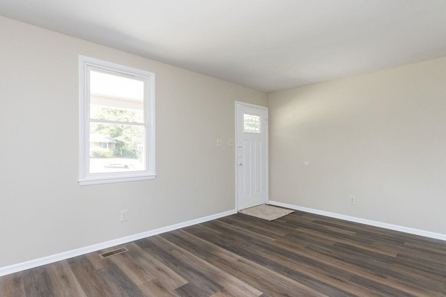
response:
<svg viewBox="0 0 446 297"><path fill-rule="evenodd" d="M320 214L321 216L328 216L330 218L339 218L341 220L348 220L350 222L361 223L364 225L371 225L371 226L375 226L375 227L381 227L381 228L385 228L385 229L390 229L390 230L395 230L395 231L399 231L399 232L415 234L415 235L420 235L420 236L425 236L425 237L430 237L433 239L440 239L440 240L446 241L446 234L424 231L424 230L419 230L419 229L413 229L413 228L403 227L403 226L399 226L399 225L392 225L392 224L378 222L376 220L367 220L365 218L357 218L355 216L346 216L344 214L336 214L334 212L329 212L329 211L322 211L322 210L311 209L311 208L307 208L307 207L299 207L297 205L286 204L286 203L277 202L277 201L269 201L268 204L276 205L278 207L286 207L289 209L305 211L305 212L309 212L310 214Z"/></svg>

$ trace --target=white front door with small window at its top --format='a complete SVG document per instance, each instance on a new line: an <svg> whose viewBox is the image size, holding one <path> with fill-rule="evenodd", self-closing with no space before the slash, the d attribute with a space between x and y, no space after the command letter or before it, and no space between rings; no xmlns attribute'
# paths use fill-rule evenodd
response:
<svg viewBox="0 0 446 297"><path fill-rule="evenodd" d="M268 109L236 102L237 209L268 202Z"/></svg>

